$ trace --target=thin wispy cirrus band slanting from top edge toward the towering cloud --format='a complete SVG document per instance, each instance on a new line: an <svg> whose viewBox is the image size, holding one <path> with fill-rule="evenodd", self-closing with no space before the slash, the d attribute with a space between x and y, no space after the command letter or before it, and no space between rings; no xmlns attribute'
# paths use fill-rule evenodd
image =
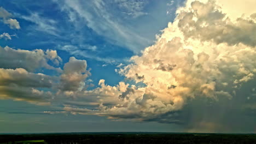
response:
<svg viewBox="0 0 256 144"><path fill-rule="evenodd" d="M139 52L138 47L144 47L150 43L148 39L136 33L135 29L119 22L117 15L112 13L113 2L115 3L115 1L105 2L100 0L85 3L83 1L67 0L56 2L60 5L61 10L68 14L69 21L79 31L86 23L87 27L98 35L104 36L109 43L128 47L133 52ZM142 12L136 10L142 7L139 6L142 5L141 1L119 1L119 5L125 7L125 10L128 10L127 13L132 16L142 15ZM83 25L81 25L81 22Z"/></svg>

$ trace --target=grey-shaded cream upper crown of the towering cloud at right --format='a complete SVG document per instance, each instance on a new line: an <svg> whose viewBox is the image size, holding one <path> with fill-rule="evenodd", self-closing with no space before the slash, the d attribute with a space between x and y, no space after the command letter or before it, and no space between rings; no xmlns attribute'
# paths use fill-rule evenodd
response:
<svg viewBox="0 0 256 144"><path fill-rule="evenodd" d="M198 1L191 3L194 12L183 11L179 28L185 38L214 40L217 44L235 45L243 43L256 46L256 21L251 18L238 18L231 21L226 14L215 8L216 4L205 4ZM193 19L197 19L194 21ZM200 38L199 38L200 37Z"/></svg>

